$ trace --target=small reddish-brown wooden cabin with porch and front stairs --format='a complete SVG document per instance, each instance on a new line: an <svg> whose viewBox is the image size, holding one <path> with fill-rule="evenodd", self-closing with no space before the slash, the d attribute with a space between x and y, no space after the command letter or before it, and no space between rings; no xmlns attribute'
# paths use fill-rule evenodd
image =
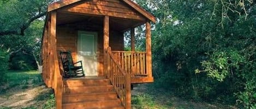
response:
<svg viewBox="0 0 256 109"><path fill-rule="evenodd" d="M131 108L131 85L153 82L151 22L131 0L62 0L48 6L42 40L43 80L60 108ZM146 24L146 51L135 51L134 28ZM130 31L131 52L124 51ZM82 61L84 77L63 78L59 52Z"/></svg>

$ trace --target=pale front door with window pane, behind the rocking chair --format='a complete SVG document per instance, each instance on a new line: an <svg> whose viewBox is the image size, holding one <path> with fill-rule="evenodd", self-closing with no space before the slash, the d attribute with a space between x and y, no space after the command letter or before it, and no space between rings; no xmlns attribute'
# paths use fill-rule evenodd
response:
<svg viewBox="0 0 256 109"><path fill-rule="evenodd" d="M82 61L86 76L98 75L97 42L96 32L78 31L78 61Z"/></svg>

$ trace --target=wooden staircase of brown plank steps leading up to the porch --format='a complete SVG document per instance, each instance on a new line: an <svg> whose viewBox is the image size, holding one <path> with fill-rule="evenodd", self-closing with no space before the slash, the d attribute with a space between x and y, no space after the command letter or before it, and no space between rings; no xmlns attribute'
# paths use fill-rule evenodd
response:
<svg viewBox="0 0 256 109"><path fill-rule="evenodd" d="M124 109L109 79L63 80L63 109Z"/></svg>

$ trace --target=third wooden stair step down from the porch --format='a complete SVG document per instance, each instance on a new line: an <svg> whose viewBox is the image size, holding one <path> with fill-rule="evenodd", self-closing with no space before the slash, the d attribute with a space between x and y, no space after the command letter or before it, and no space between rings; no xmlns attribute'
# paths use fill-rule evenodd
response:
<svg viewBox="0 0 256 109"><path fill-rule="evenodd" d="M68 102L80 102L80 101L100 101L117 99L117 94L114 91L100 92L100 93L88 93L88 94L69 94L63 96L63 103Z"/></svg>

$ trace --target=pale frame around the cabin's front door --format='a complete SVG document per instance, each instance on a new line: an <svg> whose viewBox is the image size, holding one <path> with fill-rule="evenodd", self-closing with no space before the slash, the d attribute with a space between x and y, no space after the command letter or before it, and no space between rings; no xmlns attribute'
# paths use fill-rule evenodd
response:
<svg viewBox="0 0 256 109"><path fill-rule="evenodd" d="M77 38L76 38L76 51L77 51L77 59L79 59L79 53L78 53L78 51L79 51L79 45L78 45L78 41L79 41L79 36L81 35L81 34L91 34L91 35L94 35L94 36L96 36L96 39L97 39L97 42L96 42L96 44L97 44L97 50L96 50L96 56L97 56L97 76L99 76L99 44L98 44L98 42L99 42L99 34L98 34L98 32L97 31L84 31L84 30L78 30L77 31Z"/></svg>

